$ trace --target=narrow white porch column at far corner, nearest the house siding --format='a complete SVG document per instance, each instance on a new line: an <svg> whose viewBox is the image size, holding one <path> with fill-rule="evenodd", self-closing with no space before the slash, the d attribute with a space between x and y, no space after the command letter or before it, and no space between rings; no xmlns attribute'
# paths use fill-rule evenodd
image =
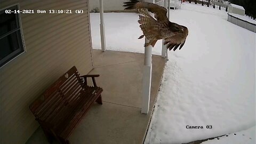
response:
<svg viewBox="0 0 256 144"><path fill-rule="evenodd" d="M103 0L100 0L100 39L101 39L101 51L106 51L106 39L105 39L105 26L103 19Z"/></svg>

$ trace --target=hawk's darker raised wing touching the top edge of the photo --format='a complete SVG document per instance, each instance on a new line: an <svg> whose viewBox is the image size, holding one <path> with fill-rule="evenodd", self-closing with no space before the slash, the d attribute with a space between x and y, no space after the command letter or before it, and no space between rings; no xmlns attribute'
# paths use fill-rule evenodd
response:
<svg viewBox="0 0 256 144"><path fill-rule="evenodd" d="M169 21L166 17L167 10L159 5L153 4L153 3L147 3L147 2L141 2L137 0L131 0L130 2L125 2L125 10L138 10L145 8L149 12L154 13L154 16L157 21Z"/></svg>

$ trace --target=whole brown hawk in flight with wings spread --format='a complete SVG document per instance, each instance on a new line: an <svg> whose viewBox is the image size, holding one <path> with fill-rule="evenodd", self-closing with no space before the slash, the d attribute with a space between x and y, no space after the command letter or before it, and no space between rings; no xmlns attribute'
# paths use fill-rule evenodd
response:
<svg viewBox="0 0 256 144"><path fill-rule="evenodd" d="M188 36L188 28L178 25L177 23L170 22L166 17L167 10L159 5L147 2L141 2L138 0L131 0L124 3L125 10L138 10L139 15L138 22L140 28L143 31L143 35L139 37L146 37L149 42L145 46L155 46L158 39L164 39L164 45L167 44L167 49L175 51L179 46L180 49L185 44ZM148 13L154 13L154 17Z"/></svg>

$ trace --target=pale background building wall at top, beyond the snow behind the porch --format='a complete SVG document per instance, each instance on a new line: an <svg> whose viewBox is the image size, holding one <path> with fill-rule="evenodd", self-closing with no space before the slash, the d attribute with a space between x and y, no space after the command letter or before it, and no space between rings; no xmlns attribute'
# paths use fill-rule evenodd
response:
<svg viewBox="0 0 256 144"><path fill-rule="evenodd" d="M100 0L89 0L90 1L90 12L94 9L100 10ZM131 10L124 10L124 2L129 2L129 0L108 0L103 1L104 12L129 12ZM133 12L133 11L132 11Z"/></svg>

